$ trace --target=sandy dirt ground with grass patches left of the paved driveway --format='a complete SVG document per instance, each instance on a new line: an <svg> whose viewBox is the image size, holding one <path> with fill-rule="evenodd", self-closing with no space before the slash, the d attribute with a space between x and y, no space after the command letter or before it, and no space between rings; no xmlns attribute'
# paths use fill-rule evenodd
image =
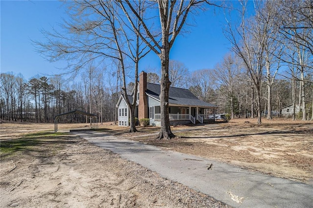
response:
<svg viewBox="0 0 313 208"><path fill-rule="evenodd" d="M53 124L0 127L1 208L228 207L79 137L54 134Z"/></svg>

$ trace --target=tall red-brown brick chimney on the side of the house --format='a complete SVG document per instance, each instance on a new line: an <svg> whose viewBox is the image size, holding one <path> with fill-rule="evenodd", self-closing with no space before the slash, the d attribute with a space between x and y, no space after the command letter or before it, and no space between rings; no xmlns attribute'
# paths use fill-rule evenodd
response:
<svg viewBox="0 0 313 208"><path fill-rule="evenodd" d="M147 73L142 71L139 74L139 104L138 104L139 120L149 118L146 90L147 90Z"/></svg>

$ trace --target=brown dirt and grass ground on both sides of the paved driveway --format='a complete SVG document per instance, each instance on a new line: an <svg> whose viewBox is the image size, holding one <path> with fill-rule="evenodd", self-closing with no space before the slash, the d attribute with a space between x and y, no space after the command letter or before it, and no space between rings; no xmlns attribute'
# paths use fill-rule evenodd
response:
<svg viewBox="0 0 313 208"><path fill-rule="evenodd" d="M213 198L65 133L86 124L0 125L0 207L227 207ZM120 138L193 154L265 174L313 184L313 122L234 119L173 126L178 136L156 140L157 127L99 125ZM4 147L4 148L3 148ZM4 151L2 151L4 149Z"/></svg>

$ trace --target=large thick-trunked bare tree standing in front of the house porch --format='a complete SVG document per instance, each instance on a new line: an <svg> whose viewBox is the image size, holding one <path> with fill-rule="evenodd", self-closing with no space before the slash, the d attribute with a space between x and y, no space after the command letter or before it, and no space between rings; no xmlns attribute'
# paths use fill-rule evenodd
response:
<svg viewBox="0 0 313 208"><path fill-rule="evenodd" d="M158 14L161 25L161 36L153 35L151 31L151 19L145 21L142 19L136 10L136 1L118 0L123 12L128 18L136 34L151 48L152 51L158 55L161 61L161 80L160 80L160 113L161 113L161 128L158 135L159 139L170 139L175 137L171 131L169 115L168 115L168 98L169 87L171 82L169 80L169 53L170 50L181 32L183 25L186 22L188 14L192 9L200 6L203 0L158 0ZM146 2L146 9L154 9L154 2ZM211 3L209 3L211 4ZM153 12L152 12L153 13ZM144 33L138 31L135 27L135 22L139 20L144 28Z"/></svg>

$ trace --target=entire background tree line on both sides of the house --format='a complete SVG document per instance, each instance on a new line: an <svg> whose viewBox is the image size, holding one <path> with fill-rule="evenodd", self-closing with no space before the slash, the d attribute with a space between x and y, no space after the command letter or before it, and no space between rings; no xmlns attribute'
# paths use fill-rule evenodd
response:
<svg viewBox="0 0 313 208"><path fill-rule="evenodd" d="M160 69L145 69L149 83L159 83ZM149 72L150 71L150 72ZM151 72L154 71L154 72ZM102 73L111 73L110 80L104 79ZM300 77L301 73L289 76L288 71L272 81L271 111L268 111L267 80L262 81L262 116L279 116L284 106L296 104L302 106ZM289 78L287 79L287 77ZM108 77L108 76L107 76ZM115 105L122 92L122 77L119 73L103 72L102 69L90 67L83 74L81 82L67 84L61 76L45 76L25 81L22 75L1 73L0 83L0 118L4 121L46 122L52 123L56 115L76 109L97 114L99 123L113 122ZM245 65L239 57L227 54L213 69L201 69L190 72L184 63L170 60L169 80L171 86L187 88L200 100L219 106L217 113L228 113L232 118L257 117L256 93L249 80ZM313 77L305 77L307 93L305 94L306 118L312 119ZM294 91L293 85L296 85ZM134 83L127 85L128 94ZM271 113L269 113L271 112ZM293 119L302 119L303 110L296 114L290 112ZM67 115L59 122L89 123L82 115Z"/></svg>

